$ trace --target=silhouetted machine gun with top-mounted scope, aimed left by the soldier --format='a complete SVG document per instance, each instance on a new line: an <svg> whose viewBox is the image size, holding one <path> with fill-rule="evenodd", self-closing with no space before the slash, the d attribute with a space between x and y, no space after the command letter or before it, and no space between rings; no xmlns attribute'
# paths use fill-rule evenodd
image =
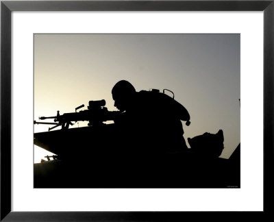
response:
<svg viewBox="0 0 274 222"><path fill-rule="evenodd" d="M84 104L75 108L75 112L64 113L60 115L60 112L57 111L56 116L41 116L40 120L45 119L54 119L55 123L44 123L44 122L36 122L34 124L51 124L55 125L53 127L49 127L49 131L53 130L55 127L61 126L62 129L68 129L69 125L74 125L71 122L77 121L88 121L89 126L98 126L103 125L104 121L112 121L115 119L115 116L120 114L119 111L108 111L108 108L105 106L105 100L97 100L97 101L89 101L88 102L88 110L82 110L77 112L79 108L83 108Z"/></svg>

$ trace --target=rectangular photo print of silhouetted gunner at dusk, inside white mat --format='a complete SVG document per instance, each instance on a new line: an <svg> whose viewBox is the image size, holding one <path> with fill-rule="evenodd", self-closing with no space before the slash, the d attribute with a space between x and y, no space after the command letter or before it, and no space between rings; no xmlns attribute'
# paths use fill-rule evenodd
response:
<svg viewBox="0 0 274 222"><path fill-rule="evenodd" d="M34 34L34 188L240 188L240 34Z"/></svg>

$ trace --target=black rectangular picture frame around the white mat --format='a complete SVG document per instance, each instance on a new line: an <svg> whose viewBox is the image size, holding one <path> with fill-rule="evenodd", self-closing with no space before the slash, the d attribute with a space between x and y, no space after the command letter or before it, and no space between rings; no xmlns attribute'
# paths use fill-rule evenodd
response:
<svg viewBox="0 0 274 222"><path fill-rule="evenodd" d="M264 210L262 212L12 212L11 13L13 11L262 11L264 13ZM274 1L1 1L1 221L265 219L273 208ZM221 214L221 215L220 215Z"/></svg>

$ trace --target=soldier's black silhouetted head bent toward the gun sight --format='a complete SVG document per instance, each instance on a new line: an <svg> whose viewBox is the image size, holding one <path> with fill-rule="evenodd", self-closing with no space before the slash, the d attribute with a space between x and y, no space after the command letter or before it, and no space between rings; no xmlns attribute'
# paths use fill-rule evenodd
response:
<svg viewBox="0 0 274 222"><path fill-rule="evenodd" d="M112 98L114 99L114 106L121 112L127 110L132 102L136 90L131 83L126 80L121 80L112 88Z"/></svg>

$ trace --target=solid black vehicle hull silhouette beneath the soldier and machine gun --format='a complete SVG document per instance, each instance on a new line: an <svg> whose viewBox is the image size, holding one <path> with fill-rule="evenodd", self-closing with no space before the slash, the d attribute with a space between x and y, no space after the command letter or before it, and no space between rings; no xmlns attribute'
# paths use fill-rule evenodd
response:
<svg viewBox="0 0 274 222"><path fill-rule="evenodd" d="M174 151L115 124L40 132L34 144L58 156L34 164L35 188L240 188L240 158Z"/></svg>

